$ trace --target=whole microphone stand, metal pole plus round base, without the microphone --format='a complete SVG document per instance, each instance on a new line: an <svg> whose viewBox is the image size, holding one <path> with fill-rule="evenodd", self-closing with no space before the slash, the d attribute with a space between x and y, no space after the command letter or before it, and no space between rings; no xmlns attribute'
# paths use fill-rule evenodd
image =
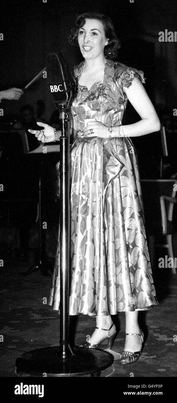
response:
<svg viewBox="0 0 177 403"><path fill-rule="evenodd" d="M69 345L69 257L70 257L70 135L68 109L60 104L60 347L29 351L16 359L19 376L99 377L101 370L113 364L108 351Z"/></svg>

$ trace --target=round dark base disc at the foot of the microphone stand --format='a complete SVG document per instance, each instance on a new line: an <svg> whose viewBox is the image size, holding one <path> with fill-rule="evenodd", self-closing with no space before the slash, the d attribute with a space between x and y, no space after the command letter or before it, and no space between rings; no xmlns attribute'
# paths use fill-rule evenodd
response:
<svg viewBox="0 0 177 403"><path fill-rule="evenodd" d="M114 357L99 349L74 347L74 355L63 358L60 347L29 351L16 359L19 376L100 376L101 371L113 364Z"/></svg>

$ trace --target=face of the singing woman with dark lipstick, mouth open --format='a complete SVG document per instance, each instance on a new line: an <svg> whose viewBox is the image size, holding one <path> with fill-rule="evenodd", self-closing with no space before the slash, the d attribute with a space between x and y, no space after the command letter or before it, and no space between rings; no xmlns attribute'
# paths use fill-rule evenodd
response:
<svg viewBox="0 0 177 403"><path fill-rule="evenodd" d="M82 56L85 59L97 58L100 54L104 54L107 43L102 22L86 18L85 24L78 32L78 44Z"/></svg>

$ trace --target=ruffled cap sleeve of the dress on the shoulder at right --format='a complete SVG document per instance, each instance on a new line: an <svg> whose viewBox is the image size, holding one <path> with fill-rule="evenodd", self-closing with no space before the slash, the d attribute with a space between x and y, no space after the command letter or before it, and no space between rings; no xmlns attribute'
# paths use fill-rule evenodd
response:
<svg viewBox="0 0 177 403"><path fill-rule="evenodd" d="M144 73L141 70L136 70L125 64L118 63L115 69L115 77L122 87L130 87L134 77L138 77L142 83L145 83Z"/></svg>

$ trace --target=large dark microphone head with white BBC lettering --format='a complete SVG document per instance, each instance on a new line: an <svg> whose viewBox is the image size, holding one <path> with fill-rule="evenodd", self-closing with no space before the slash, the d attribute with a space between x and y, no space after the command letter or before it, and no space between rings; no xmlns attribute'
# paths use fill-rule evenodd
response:
<svg viewBox="0 0 177 403"><path fill-rule="evenodd" d="M46 67L49 88L56 107L61 110L68 109L74 95L76 82L71 76L62 53L49 53Z"/></svg>

